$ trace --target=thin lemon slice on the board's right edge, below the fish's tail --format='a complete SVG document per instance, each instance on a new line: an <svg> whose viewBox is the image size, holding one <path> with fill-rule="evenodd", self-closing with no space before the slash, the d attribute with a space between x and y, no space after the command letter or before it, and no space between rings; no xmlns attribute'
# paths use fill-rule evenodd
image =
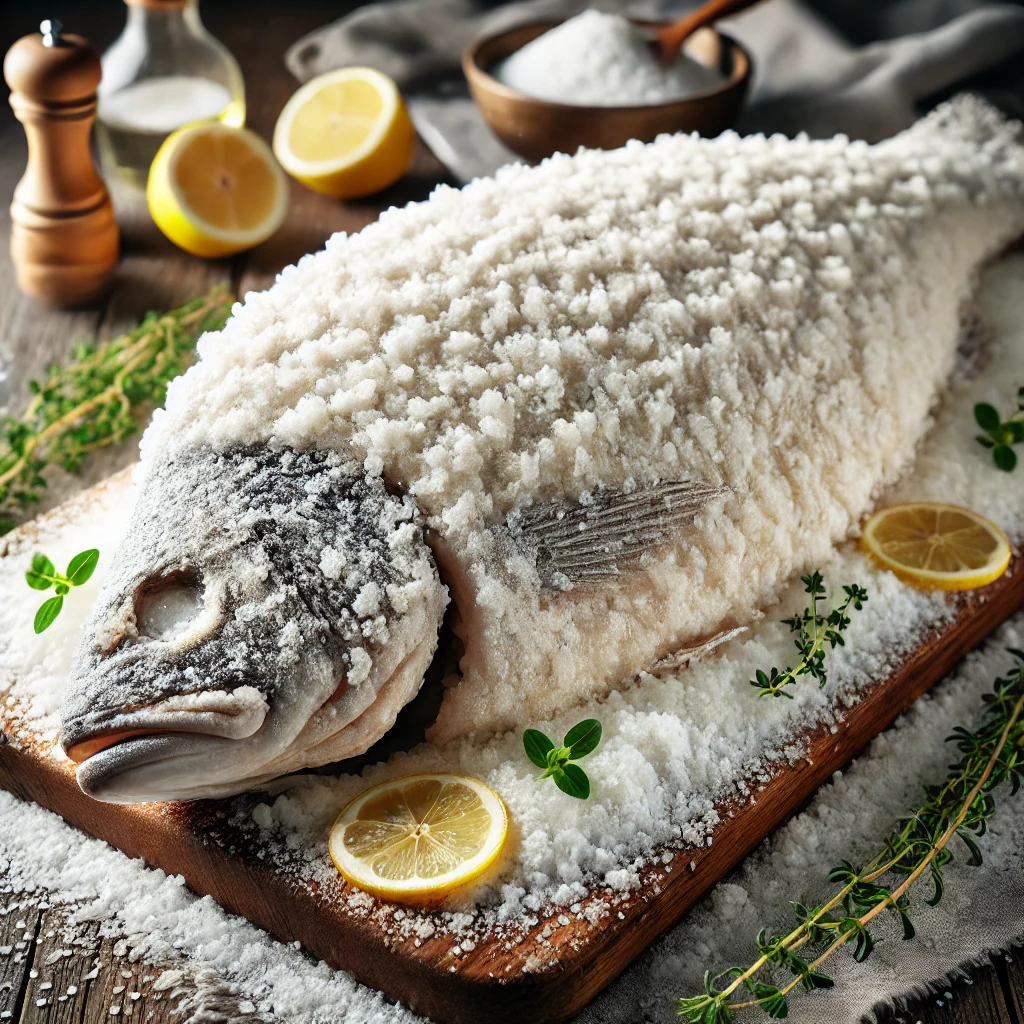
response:
<svg viewBox="0 0 1024 1024"><path fill-rule="evenodd" d="M905 583L938 590L984 587L1010 564L1010 541L994 522L938 502L879 510L867 520L860 543Z"/></svg>

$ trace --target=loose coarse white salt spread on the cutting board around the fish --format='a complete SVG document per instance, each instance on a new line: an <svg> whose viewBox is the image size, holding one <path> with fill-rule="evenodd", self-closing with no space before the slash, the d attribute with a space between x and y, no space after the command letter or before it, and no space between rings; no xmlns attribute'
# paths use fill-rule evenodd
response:
<svg viewBox="0 0 1024 1024"><path fill-rule="evenodd" d="M1024 256L1008 257L987 270L977 303L987 341L965 360L970 369L957 372L914 469L883 500L938 498L969 505L1019 544L1024 538L1024 473L993 467L990 454L974 440L972 409L982 400L1014 408L1024 365ZM96 516L116 521L116 512L102 503L94 515L80 516L70 521L61 516L41 539L47 551L59 555L58 562L94 536ZM41 663L39 640L31 632L35 609L25 600L22 574L35 543L19 542L0 563L0 711L15 742L35 737L52 741L70 664L70 655L63 663ZM904 586L849 546L822 569L830 587L857 582L870 595L853 618L847 646L828 654L825 691L805 680L794 688L793 700L759 701L749 684L759 668L792 664L792 636L780 620L803 607L805 595L798 584L781 595L770 620L688 671L664 679L644 675L603 700L531 721L553 736L563 735L583 717L602 721L604 739L585 763L594 786L588 801L569 800L554 785L539 784L517 731L483 743L425 743L359 776L284 779L278 793L251 811L251 800L240 801L236 818L249 822L265 857L298 885L332 892L339 882L327 837L341 807L388 778L419 771L461 772L485 781L508 804L520 836L514 856L474 894L474 907L459 913L402 912L400 918L396 908L385 907L382 925L402 934L422 932L422 937L436 931L478 936L514 927L546 908L570 908L595 889L628 892L642 867L657 862L666 849L713 840L716 807L723 800L754 795L752 786L766 768L799 761L804 750L797 737L803 729L838 721L950 614L941 594ZM97 572L103 570L101 563ZM70 601L58 620L69 633L80 628L86 603ZM62 757L59 748L53 756ZM609 912L601 901L584 907L595 918ZM361 910L356 901L352 909L378 912L373 901Z"/></svg>

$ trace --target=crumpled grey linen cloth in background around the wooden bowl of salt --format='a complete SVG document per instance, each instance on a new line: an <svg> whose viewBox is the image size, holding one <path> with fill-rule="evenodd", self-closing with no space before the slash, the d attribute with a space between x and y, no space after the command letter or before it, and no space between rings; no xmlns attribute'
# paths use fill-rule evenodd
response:
<svg viewBox="0 0 1024 1024"><path fill-rule="evenodd" d="M976 85L979 73L1000 66L1001 87L994 95L990 89L990 98L1024 112L1024 7L972 6L970 0L821 2L851 32L923 31L858 46L801 0L767 0L722 22L754 57L753 88L738 131L843 133L877 141L910 125L926 100ZM497 7L481 0L393 0L360 7L310 33L289 49L286 62L303 82L346 65L390 75L406 93L424 141L456 178L468 181L518 158L492 134L469 98L459 70L465 47L481 35L586 7L651 18L680 9L672 0L525 0Z"/></svg>

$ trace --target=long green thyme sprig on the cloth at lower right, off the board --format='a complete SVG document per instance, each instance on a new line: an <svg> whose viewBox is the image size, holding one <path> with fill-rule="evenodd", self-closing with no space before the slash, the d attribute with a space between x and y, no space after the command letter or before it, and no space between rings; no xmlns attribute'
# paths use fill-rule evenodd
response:
<svg viewBox="0 0 1024 1024"><path fill-rule="evenodd" d="M786 997L798 985L808 991L833 987L833 979L819 968L841 946L852 943L858 962L870 955L874 939L868 926L881 913L896 913L903 938L914 937L910 889L928 874L934 891L925 902L931 906L939 902L942 868L953 859L949 843L954 836L967 847L967 862L981 864L977 839L985 835L995 812L993 791L1009 781L1014 796L1024 784L1024 651L1011 649L1011 653L1017 665L982 697L985 709L978 728L970 732L957 727L947 737L961 758L950 766L945 782L926 786L927 802L896 823L881 852L863 867L843 861L831 869L828 880L841 888L826 903L813 908L793 904L799 924L788 935L762 931L757 937L759 956L751 967L731 967L717 975L708 972L703 993L680 999L680 1017L688 1024L730 1024L734 1011L751 1007L769 1017L785 1017ZM798 956L803 946L817 955ZM768 965L787 971L793 980L781 986L760 981Z"/></svg>

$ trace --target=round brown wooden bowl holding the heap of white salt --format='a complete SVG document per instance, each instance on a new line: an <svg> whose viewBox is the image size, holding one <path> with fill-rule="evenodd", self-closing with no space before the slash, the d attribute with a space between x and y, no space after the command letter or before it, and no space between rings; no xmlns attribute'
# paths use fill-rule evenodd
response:
<svg viewBox="0 0 1024 1024"><path fill-rule="evenodd" d="M615 150L631 138L650 142L664 132L697 131L717 135L736 119L751 79L751 58L734 40L701 29L687 42L695 60L718 69L721 85L691 92L683 99L646 106L582 106L524 95L488 74L500 60L559 25L536 23L480 39L463 54L462 67L483 119L512 151L529 161L581 146ZM645 29L654 22L634 22Z"/></svg>

